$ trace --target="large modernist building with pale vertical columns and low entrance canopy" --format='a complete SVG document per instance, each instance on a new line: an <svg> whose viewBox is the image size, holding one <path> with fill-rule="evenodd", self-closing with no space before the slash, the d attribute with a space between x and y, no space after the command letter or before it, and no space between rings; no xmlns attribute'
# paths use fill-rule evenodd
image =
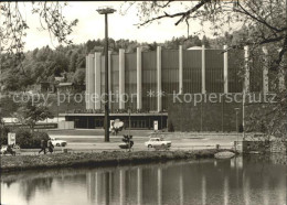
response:
<svg viewBox="0 0 287 205"><path fill-rule="evenodd" d="M268 93L268 71L261 58L253 60L258 69L249 71L245 62L248 47L242 51L199 48L163 50L118 54L109 52L108 77L110 119L128 120L131 128L167 127L169 96L174 94ZM245 72L241 72L241 66ZM86 114L68 114L78 128L104 125L105 56L86 56ZM104 97L103 97L104 99Z"/></svg>

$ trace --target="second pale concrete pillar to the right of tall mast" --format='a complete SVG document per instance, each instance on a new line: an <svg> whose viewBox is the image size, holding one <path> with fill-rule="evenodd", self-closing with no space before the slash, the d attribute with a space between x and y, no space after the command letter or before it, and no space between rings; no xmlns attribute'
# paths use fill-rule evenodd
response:
<svg viewBox="0 0 287 205"><path fill-rule="evenodd" d="M119 61L119 67L118 67L118 74L119 74L119 80L118 80L118 94L119 94L119 102L118 107L119 109L125 109L125 50L119 50L118 54L118 61Z"/></svg>

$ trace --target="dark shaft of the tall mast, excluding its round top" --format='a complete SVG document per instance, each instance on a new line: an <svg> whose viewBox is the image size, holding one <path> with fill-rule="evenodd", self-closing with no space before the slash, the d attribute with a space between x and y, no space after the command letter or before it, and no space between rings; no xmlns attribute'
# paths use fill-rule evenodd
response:
<svg viewBox="0 0 287 205"><path fill-rule="evenodd" d="M105 13L105 142L109 142L109 93L108 93L108 20Z"/></svg>

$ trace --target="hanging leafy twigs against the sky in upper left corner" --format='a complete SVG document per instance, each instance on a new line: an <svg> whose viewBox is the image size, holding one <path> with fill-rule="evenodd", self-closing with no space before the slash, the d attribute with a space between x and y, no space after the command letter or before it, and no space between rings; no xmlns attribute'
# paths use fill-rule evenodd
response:
<svg viewBox="0 0 287 205"><path fill-rule="evenodd" d="M60 43L71 44L68 35L77 20L67 21L62 13L65 2L31 2L31 13L38 15L41 29L46 30L51 36L55 36ZM22 4L23 6L23 4ZM1 2L1 30L0 41L2 51L9 54L23 55L24 40L29 24L25 20L25 13L20 9L20 2Z"/></svg>

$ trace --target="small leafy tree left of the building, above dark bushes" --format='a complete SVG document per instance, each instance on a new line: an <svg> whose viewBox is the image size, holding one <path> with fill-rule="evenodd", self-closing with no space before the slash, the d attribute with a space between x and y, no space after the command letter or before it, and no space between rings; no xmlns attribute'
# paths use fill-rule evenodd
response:
<svg viewBox="0 0 287 205"><path fill-rule="evenodd" d="M53 114L49 110L49 106L40 97L36 98L35 96L31 96L26 102L22 102L14 117L22 125L29 126L32 132L38 121L54 118Z"/></svg>

